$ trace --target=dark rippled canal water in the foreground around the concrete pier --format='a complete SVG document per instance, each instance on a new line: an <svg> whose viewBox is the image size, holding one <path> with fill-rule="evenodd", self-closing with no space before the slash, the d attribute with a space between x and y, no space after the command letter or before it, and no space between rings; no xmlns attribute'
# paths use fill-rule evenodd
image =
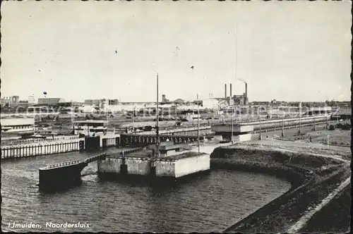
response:
<svg viewBox="0 0 353 234"><path fill-rule="evenodd" d="M109 149L114 152L116 149ZM83 170L83 184L52 195L38 191L38 168L97 153L1 161L1 228L4 231L220 232L290 188L257 173L211 171L173 187L100 180L97 163ZM32 222L38 228L9 228ZM78 224L81 228L51 228ZM10 224L9 224L10 223Z"/></svg>

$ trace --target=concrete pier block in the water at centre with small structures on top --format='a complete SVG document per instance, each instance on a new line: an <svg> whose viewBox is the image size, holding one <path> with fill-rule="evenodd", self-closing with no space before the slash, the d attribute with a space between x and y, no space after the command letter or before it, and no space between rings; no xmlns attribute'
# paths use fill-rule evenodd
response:
<svg viewBox="0 0 353 234"><path fill-rule="evenodd" d="M160 144L160 156L153 153L111 155L98 161L100 176L142 176L177 180L183 176L210 170L210 154L184 150L186 144ZM154 145L148 147L154 152ZM143 155L143 156L141 156Z"/></svg>

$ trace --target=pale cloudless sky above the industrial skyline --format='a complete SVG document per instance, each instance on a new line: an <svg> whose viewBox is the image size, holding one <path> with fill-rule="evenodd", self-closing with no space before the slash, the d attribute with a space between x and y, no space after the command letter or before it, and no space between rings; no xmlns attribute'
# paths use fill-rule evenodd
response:
<svg viewBox="0 0 353 234"><path fill-rule="evenodd" d="M350 100L350 1L1 5L1 97Z"/></svg>

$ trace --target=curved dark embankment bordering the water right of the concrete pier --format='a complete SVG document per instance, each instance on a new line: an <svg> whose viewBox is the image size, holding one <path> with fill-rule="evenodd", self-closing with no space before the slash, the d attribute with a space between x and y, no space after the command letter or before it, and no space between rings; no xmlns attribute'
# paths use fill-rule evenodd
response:
<svg viewBox="0 0 353 234"><path fill-rule="evenodd" d="M337 183L350 176L347 162L334 157L298 149L250 145L215 149L211 154L211 168L266 173L283 178L292 185L284 195L225 230L242 233L286 233L310 207L319 204L335 190ZM349 201L345 201L341 205L348 204ZM337 219L331 222L336 228L340 226ZM349 227L345 228L349 230Z"/></svg>

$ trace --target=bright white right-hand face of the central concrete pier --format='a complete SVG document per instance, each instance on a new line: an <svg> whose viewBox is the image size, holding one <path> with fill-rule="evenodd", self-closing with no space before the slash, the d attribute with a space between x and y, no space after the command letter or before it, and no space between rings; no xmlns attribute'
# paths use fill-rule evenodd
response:
<svg viewBox="0 0 353 234"><path fill-rule="evenodd" d="M210 154L201 154L175 161L175 178L208 170L210 170Z"/></svg>

